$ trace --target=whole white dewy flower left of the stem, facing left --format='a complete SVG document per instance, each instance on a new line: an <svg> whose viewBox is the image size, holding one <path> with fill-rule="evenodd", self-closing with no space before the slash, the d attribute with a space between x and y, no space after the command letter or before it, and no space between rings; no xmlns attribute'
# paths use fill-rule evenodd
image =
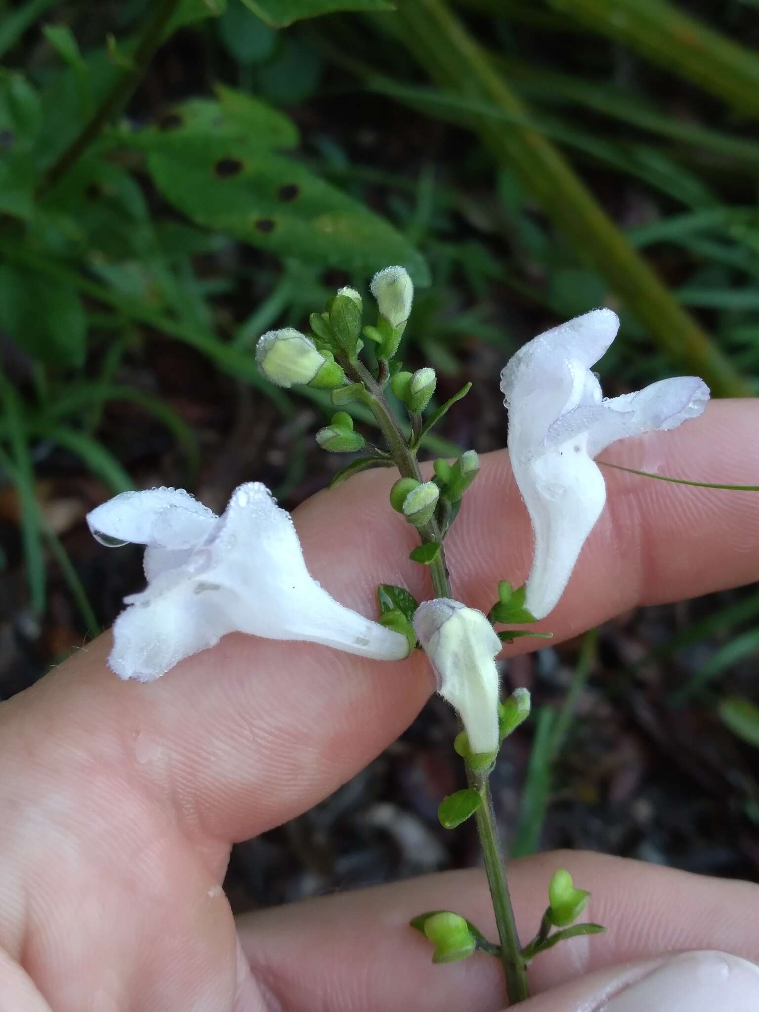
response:
<svg viewBox="0 0 759 1012"><path fill-rule="evenodd" d="M108 658L119 678L151 681L227 632L307 640L400 660L405 637L338 604L306 569L288 513L258 482L218 517L181 489L123 492L87 517L104 544L146 544L148 587L125 598Z"/></svg>

